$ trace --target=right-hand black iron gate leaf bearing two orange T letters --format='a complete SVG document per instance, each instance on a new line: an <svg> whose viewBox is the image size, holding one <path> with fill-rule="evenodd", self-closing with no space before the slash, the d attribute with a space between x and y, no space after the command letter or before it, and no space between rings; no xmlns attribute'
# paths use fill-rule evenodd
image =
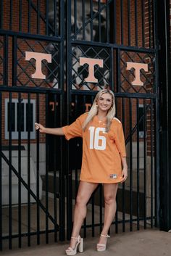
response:
<svg viewBox="0 0 171 256"><path fill-rule="evenodd" d="M142 225L144 228L157 225L159 140L155 15L154 1L72 1L67 6L68 123L88 111L96 90L109 86L114 91L117 117L125 130L129 178L118 191L113 223L116 232L119 227L122 231L132 231L133 226L139 229ZM102 59L103 65L96 59ZM80 140L75 139L75 150L70 150L69 146L72 162L77 162L80 150ZM72 230L69 213L78 189L80 166L73 172L69 165L67 170L69 238ZM102 186L93 195L90 205L93 214L85 220L84 236L88 227L92 236L96 227L101 231Z"/></svg>

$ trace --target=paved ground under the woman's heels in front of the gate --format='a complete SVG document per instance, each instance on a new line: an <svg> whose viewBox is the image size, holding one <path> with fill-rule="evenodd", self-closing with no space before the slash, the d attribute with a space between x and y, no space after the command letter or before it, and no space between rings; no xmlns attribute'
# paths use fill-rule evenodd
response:
<svg viewBox="0 0 171 256"><path fill-rule="evenodd" d="M97 238L84 240L84 252L81 256L117 255L117 256L170 256L171 233L158 230L133 231L114 234L108 240L106 252L96 252ZM67 241L57 244L43 244L24 249L12 249L1 252L1 255L12 256L57 256L64 255Z"/></svg>

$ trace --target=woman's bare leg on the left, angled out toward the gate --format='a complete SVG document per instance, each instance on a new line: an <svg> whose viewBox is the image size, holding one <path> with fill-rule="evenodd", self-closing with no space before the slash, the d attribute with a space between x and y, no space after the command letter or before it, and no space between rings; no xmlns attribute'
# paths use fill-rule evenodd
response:
<svg viewBox="0 0 171 256"><path fill-rule="evenodd" d="M97 186L98 183L88 183L86 181L80 181L72 228L72 236L74 237L78 237L80 234L80 228L83 224L84 218L86 218L88 200L91 198L91 194ZM77 241L75 241L75 239L71 239L70 247L74 248L76 242Z"/></svg>

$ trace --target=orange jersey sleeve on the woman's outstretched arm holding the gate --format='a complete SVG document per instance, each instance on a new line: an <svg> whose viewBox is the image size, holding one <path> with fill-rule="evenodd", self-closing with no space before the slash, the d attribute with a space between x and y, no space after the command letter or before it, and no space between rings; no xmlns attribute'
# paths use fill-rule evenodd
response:
<svg viewBox="0 0 171 256"><path fill-rule="evenodd" d="M81 118L80 116L71 125L66 125L62 127L62 131L64 132L64 136L67 140L83 136L82 119L83 118Z"/></svg>

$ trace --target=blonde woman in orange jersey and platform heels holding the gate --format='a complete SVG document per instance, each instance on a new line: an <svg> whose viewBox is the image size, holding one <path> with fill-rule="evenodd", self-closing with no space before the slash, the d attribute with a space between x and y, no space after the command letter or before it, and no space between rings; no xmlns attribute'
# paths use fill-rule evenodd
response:
<svg viewBox="0 0 171 256"><path fill-rule="evenodd" d="M128 176L125 139L122 124L115 116L114 94L103 89L94 99L91 110L80 115L71 125L62 128L45 128L36 123L41 133L64 135L67 140L83 137L83 158L80 184L76 199L72 236L67 255L83 252L80 228L86 218L86 205L99 183L104 187L104 226L97 251L106 249L108 230L116 212L116 194L119 182Z"/></svg>

